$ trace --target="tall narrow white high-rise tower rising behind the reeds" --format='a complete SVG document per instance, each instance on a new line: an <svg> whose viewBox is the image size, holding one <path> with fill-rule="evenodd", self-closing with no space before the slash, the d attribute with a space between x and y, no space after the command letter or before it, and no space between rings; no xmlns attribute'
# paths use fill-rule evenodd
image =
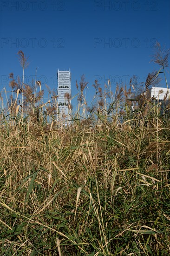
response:
<svg viewBox="0 0 170 256"><path fill-rule="evenodd" d="M60 71L58 69L58 106L59 120L70 120L71 114L71 73L68 71Z"/></svg>

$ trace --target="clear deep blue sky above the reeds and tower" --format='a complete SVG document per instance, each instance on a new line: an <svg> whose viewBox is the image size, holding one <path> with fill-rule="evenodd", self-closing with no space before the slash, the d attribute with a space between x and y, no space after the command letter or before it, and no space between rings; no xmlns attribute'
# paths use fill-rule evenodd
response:
<svg viewBox="0 0 170 256"><path fill-rule="evenodd" d="M156 40L170 48L170 1L1 0L0 37L0 90L9 89L9 73L22 75L22 50L28 84L38 67L42 87L57 88L57 69L70 68L72 96L85 74L90 102L95 78L103 88L110 79L114 92L117 82L129 85L132 75L142 82L159 68L150 59Z"/></svg>

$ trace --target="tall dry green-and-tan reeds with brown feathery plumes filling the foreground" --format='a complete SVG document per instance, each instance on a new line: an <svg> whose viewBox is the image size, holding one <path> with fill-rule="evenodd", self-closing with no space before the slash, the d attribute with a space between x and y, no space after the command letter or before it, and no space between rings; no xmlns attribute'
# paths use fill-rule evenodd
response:
<svg viewBox="0 0 170 256"><path fill-rule="evenodd" d="M82 77L63 127L55 94L44 103L12 77L16 97L0 112L0 255L170 254L170 105L161 114L148 93L158 78L143 95L135 77L115 94L95 81L87 106Z"/></svg>

